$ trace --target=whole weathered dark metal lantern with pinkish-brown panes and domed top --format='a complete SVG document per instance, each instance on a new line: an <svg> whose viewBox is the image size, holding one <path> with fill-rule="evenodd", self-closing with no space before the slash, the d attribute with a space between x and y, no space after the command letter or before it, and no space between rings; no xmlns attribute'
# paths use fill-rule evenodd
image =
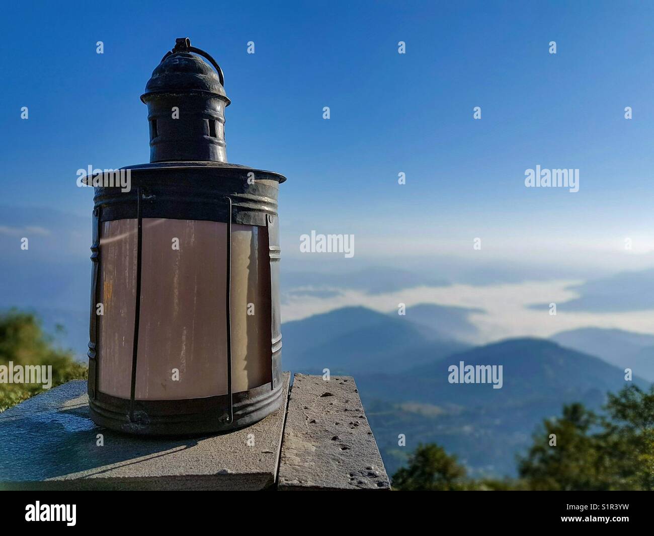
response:
<svg viewBox="0 0 654 536"><path fill-rule="evenodd" d="M222 70L188 39L163 56L141 100L150 164L120 170L129 191L85 179L95 185L91 416L150 435L243 427L282 401L286 179L228 164Z"/></svg>

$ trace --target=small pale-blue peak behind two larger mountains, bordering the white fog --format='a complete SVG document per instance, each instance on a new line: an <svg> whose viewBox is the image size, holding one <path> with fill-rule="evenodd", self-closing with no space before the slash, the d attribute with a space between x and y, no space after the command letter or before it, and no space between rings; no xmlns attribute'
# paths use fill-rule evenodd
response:
<svg viewBox="0 0 654 536"><path fill-rule="evenodd" d="M471 313L483 313L483 309L418 304L407 308L406 319L411 321L428 340L459 340L470 342L477 334L477 327L468 320ZM397 311L389 313L398 316Z"/></svg>

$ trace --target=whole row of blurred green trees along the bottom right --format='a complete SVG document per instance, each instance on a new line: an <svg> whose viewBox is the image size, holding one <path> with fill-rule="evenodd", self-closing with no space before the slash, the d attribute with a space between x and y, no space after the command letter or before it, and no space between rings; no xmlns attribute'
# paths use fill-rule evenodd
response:
<svg viewBox="0 0 654 536"><path fill-rule="evenodd" d="M654 490L654 386L609 395L606 414L563 406L518 459L515 480L473 480L456 457L420 445L393 476L396 490ZM554 438L556 445L553 444Z"/></svg>

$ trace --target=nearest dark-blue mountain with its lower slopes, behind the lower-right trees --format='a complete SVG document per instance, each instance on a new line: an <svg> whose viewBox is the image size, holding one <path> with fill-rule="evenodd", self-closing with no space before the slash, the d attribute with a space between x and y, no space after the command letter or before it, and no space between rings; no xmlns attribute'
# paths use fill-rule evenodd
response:
<svg viewBox="0 0 654 536"><path fill-rule="evenodd" d="M450 365L502 365L502 389L449 384ZM366 414L392 473L422 442L438 442L476 474L515 474L515 455L562 404L597 410L627 382L620 368L547 340L506 340L450 355L401 374L358 374ZM647 382L634 378L647 387ZM405 434L407 447L398 447Z"/></svg>

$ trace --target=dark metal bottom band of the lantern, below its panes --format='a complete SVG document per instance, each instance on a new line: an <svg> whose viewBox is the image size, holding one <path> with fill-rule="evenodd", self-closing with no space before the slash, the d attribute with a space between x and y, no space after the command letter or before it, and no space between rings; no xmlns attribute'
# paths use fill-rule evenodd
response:
<svg viewBox="0 0 654 536"><path fill-rule="evenodd" d="M130 419L130 401L97 392L89 397L91 420L123 433L145 436L189 436L233 431L249 426L278 410L283 401L283 383L260 385L233 393L233 421L228 420L228 395L201 399L135 401Z"/></svg>

